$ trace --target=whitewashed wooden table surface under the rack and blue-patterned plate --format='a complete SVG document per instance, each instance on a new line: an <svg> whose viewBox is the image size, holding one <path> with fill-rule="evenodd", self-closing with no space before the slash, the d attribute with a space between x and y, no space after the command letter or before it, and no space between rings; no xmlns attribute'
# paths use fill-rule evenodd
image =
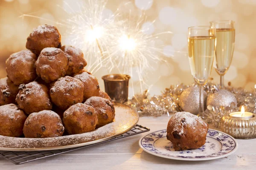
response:
<svg viewBox="0 0 256 170"><path fill-rule="evenodd" d="M150 132L166 128L168 116L141 117L138 124ZM92 147L71 151L26 164L15 165L0 156L0 170L250 170L256 168L256 139L238 139L233 155L209 161L177 161L143 151L138 141L142 133Z"/></svg>

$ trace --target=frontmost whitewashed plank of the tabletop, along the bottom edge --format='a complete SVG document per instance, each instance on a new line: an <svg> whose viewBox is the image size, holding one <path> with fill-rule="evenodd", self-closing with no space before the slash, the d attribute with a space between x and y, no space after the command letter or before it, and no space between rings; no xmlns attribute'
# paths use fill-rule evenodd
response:
<svg viewBox="0 0 256 170"><path fill-rule="evenodd" d="M95 154L95 155L58 155L51 158L41 159L21 165L14 165L9 161L0 159L1 170L141 170L141 169L197 169L216 170L231 168L253 169L256 155L254 154L233 154L226 158L209 161L177 161L163 159L157 156L138 150L136 154Z"/></svg>

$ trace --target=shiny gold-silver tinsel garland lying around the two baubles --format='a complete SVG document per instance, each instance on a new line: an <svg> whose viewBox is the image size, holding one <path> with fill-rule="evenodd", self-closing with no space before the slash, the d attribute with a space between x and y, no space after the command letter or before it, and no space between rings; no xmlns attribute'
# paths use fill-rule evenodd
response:
<svg viewBox="0 0 256 170"><path fill-rule="evenodd" d="M161 116L163 114L175 113L182 111L179 106L179 97L184 89L189 88L192 85L171 85L166 88L161 95L149 96L148 90L143 94L136 94L132 99L129 99L125 104L138 111L140 116ZM212 82L207 83L204 86L204 90L209 94L211 91L218 90L219 85ZM237 107L230 105L228 107L212 107L207 106L205 117L208 122L215 127L219 126L220 119L226 113L238 111L240 106L244 106L245 110L251 113L256 113L256 89L246 91L244 88L234 88L229 83L229 86L225 87L226 90L233 93L237 99Z"/></svg>

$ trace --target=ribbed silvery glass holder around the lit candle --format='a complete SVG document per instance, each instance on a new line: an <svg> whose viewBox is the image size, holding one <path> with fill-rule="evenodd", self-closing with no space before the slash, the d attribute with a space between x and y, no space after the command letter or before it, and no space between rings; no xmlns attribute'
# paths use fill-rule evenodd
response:
<svg viewBox="0 0 256 170"><path fill-rule="evenodd" d="M221 130L236 139L256 138L256 114L251 118L237 118L227 113L221 119Z"/></svg>

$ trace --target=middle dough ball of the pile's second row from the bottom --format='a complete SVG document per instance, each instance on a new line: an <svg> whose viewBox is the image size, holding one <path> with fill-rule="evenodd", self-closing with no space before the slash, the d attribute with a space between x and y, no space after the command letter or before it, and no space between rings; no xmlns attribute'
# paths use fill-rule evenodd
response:
<svg viewBox="0 0 256 170"><path fill-rule="evenodd" d="M71 105L83 102L84 85L79 79L70 76L59 78L52 83L50 96L52 102L62 110L66 110Z"/></svg>

